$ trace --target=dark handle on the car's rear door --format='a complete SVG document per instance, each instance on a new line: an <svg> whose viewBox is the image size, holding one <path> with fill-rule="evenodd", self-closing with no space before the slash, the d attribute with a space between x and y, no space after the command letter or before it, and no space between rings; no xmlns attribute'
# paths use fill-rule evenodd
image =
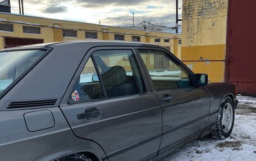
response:
<svg viewBox="0 0 256 161"><path fill-rule="evenodd" d="M104 114L103 110L99 110L96 107L88 108L84 113L77 114L77 119L98 119L100 116Z"/></svg>

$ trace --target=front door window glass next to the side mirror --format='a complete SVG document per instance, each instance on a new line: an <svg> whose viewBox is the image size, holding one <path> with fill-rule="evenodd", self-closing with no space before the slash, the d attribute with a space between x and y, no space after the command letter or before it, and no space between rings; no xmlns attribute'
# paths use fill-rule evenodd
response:
<svg viewBox="0 0 256 161"><path fill-rule="evenodd" d="M189 72L167 53L146 49L138 51L157 91L193 86Z"/></svg>

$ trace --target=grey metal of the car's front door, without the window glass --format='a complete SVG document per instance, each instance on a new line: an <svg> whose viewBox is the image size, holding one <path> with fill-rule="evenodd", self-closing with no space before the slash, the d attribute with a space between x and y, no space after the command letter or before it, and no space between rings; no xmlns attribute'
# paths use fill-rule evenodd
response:
<svg viewBox="0 0 256 161"><path fill-rule="evenodd" d="M136 47L137 52L139 52L140 49L160 50L169 54L173 62L179 62L173 54L168 53L165 49ZM141 57L140 61L143 62ZM160 150L164 148L168 149L168 146L171 144L205 128L210 109L209 94L205 87L196 88L192 86L189 88L157 91L156 88L154 88L152 77L149 75L149 72L147 72L147 67L144 63L143 67L146 71L152 91L157 95L162 109L163 137ZM188 73L191 72L188 67L183 67ZM170 96L171 100L163 101L162 99L164 99L165 95Z"/></svg>

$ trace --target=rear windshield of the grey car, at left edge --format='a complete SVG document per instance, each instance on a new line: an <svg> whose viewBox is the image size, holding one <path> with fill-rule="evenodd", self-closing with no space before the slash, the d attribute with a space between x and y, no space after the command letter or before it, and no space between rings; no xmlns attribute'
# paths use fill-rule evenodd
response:
<svg viewBox="0 0 256 161"><path fill-rule="evenodd" d="M0 94L44 53L44 50L0 52Z"/></svg>

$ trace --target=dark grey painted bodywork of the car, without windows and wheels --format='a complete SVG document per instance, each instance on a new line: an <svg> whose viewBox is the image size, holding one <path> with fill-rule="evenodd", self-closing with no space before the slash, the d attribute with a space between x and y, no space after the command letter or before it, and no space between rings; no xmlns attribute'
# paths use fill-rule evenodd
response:
<svg viewBox="0 0 256 161"><path fill-rule="evenodd" d="M51 52L15 82L15 86L0 100L0 160L54 160L85 151L100 160L156 158L157 154L179 147L189 138L199 136L206 126L211 126L225 96L235 99L235 86L231 84L157 92L135 49L154 48L171 54L159 45L72 41L15 49L45 47L51 48ZM89 58L89 51L99 48L131 49L139 63L147 91L67 104ZM185 65L182 66L193 73ZM161 103L164 94L172 95L173 102ZM53 99L56 102L50 106L10 108L10 104L15 102ZM77 119L77 114L91 107L103 110L104 114L93 120ZM36 127L36 115L42 114L41 111L46 114L43 112L45 117L41 119L44 120L40 122L40 127ZM52 113L54 124L48 111ZM30 123L26 124L31 113ZM45 120L47 118L51 121Z"/></svg>

